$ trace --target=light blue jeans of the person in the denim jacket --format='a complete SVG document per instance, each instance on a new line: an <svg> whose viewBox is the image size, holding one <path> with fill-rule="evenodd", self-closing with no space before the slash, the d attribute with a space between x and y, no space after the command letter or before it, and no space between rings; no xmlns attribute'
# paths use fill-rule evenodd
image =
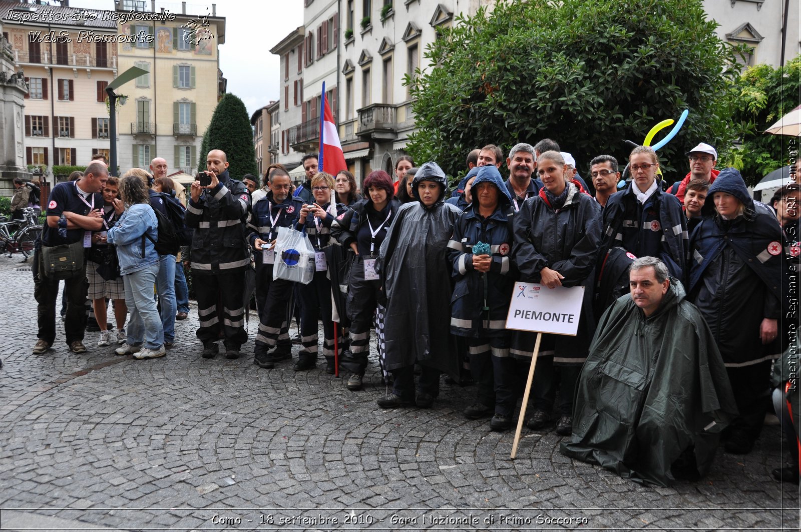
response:
<svg viewBox="0 0 801 532"><path fill-rule="evenodd" d="M164 331L159 311L153 299L153 284L159 275L159 264L151 264L138 272L123 276L125 304L131 317L128 320L129 345L139 345L143 341L147 349L159 349L164 343Z"/></svg>

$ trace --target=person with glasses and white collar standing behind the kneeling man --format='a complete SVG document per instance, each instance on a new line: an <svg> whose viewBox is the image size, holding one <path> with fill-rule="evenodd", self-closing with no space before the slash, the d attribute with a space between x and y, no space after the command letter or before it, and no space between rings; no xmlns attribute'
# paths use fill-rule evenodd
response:
<svg viewBox="0 0 801 532"><path fill-rule="evenodd" d="M687 219L676 196L662 192L656 179L658 167L653 148L638 146L631 151L631 183L614 193L603 211L600 259L604 261L611 248L619 247L634 257L655 256L666 264L671 276L684 279Z"/></svg>

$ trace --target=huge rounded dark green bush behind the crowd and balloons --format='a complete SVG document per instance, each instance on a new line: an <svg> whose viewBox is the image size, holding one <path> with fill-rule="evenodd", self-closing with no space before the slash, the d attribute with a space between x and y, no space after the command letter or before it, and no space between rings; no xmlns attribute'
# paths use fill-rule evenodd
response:
<svg viewBox="0 0 801 532"><path fill-rule="evenodd" d="M586 175L590 159L626 162L663 119L690 115L658 153L666 179L687 171L700 141L730 145L735 50L701 0L513 0L459 18L426 50L412 83L419 130L408 149L446 172L486 143L554 139ZM656 136L654 144L670 128Z"/></svg>

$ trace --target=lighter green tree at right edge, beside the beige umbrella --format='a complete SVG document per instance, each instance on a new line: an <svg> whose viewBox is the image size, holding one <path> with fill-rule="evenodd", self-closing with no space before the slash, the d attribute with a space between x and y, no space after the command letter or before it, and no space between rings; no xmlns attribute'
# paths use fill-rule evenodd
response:
<svg viewBox="0 0 801 532"><path fill-rule="evenodd" d="M762 64L747 69L738 91L733 122L741 144L726 162L738 167L748 184L755 184L798 155L798 139L763 131L801 103L801 55L784 67Z"/></svg>

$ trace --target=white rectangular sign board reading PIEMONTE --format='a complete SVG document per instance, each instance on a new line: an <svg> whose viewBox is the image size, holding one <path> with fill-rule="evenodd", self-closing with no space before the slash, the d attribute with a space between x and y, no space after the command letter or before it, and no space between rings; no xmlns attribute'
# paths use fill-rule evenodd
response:
<svg viewBox="0 0 801 532"><path fill-rule="evenodd" d="M548 288L538 283L514 284L506 328L576 336L584 287Z"/></svg>

